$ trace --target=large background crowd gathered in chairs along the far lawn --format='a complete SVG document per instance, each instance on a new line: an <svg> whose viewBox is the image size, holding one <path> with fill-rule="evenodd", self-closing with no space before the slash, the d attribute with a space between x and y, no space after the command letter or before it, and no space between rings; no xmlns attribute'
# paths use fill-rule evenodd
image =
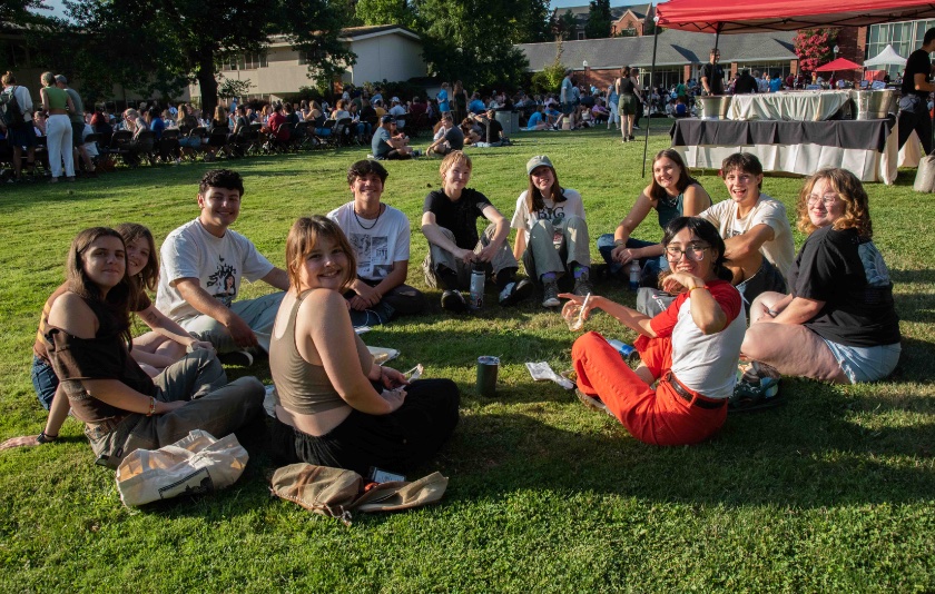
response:
<svg viewBox="0 0 935 594"><path fill-rule="evenodd" d="M395 152L385 158L444 156L464 146L510 143L498 120L499 111L515 111L522 130L577 130L598 125L619 128L620 125L613 85L598 89L575 83L574 99L568 106L557 93L469 93L457 81L453 86L444 83L434 97L417 93L387 97L381 88L372 93L366 89L348 89L335 96L333 105L307 99L272 103L233 99L229 103L222 101L211 112L203 112L190 103L167 103L159 99L135 103L122 111L112 102L85 103L68 87L65 76L51 72L42 75L42 86L41 97L33 101L12 72L3 77L4 92L16 95L24 121L6 126L0 118L0 164L11 166L9 171L0 171L2 180L35 180L37 165L51 181L62 176L73 181L97 177L99 170L110 169L117 158L136 166L147 161L179 164L198 157L211 161L257 151L278 152L334 143L373 143L376 149L375 138L385 137L381 128L398 140L388 143ZM646 100L658 97L650 93ZM661 102L648 105L652 106L648 108L650 111L662 110ZM642 103L634 119L636 127L641 113ZM70 126L61 123L62 116L67 116ZM383 126L384 116L392 116L392 128ZM410 147L410 137L419 132L427 135L429 130L432 140L424 149ZM129 137L118 135L119 146L112 142L115 132L124 131ZM380 146L386 148L386 143ZM384 158L384 152L388 150L372 154Z"/></svg>

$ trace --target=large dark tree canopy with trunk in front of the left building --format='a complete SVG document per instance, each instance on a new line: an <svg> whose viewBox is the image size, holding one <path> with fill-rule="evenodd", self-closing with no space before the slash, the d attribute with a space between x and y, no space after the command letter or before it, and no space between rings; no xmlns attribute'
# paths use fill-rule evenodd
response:
<svg viewBox="0 0 935 594"><path fill-rule="evenodd" d="M142 93L201 89L203 109L217 105L219 66L262 52L270 36L302 51L309 76L329 80L354 63L338 41L342 0L66 1L72 23L59 34L59 61L80 76L89 97L115 85ZM236 60L233 60L236 61Z"/></svg>

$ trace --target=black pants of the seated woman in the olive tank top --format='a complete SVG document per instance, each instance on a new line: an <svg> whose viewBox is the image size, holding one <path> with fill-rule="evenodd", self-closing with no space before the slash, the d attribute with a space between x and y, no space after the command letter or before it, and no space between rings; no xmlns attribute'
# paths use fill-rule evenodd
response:
<svg viewBox="0 0 935 594"><path fill-rule="evenodd" d="M291 463L347 468L364 477L372 466L404 474L432 458L447 442L457 425L460 402L461 393L451 379L419 379L406 387L405 403L394 413L354 410L321 437L277 420L274 448L277 443L286 445L282 449Z"/></svg>

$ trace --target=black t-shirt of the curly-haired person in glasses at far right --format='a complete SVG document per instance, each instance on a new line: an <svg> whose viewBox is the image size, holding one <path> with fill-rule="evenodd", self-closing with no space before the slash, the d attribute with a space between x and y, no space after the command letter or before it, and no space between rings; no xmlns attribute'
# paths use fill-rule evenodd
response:
<svg viewBox="0 0 935 594"><path fill-rule="evenodd" d="M869 347L899 341L893 281L873 241L854 229L823 227L801 246L789 271L793 295L825 301L805 327L842 345Z"/></svg>

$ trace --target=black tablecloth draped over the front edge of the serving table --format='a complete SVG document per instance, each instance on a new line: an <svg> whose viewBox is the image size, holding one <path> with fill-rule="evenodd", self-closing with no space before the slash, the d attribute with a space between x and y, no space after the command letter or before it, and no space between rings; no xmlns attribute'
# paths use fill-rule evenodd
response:
<svg viewBox="0 0 935 594"><path fill-rule="evenodd" d="M895 118L833 121L676 120L672 146L821 145L883 152Z"/></svg>

